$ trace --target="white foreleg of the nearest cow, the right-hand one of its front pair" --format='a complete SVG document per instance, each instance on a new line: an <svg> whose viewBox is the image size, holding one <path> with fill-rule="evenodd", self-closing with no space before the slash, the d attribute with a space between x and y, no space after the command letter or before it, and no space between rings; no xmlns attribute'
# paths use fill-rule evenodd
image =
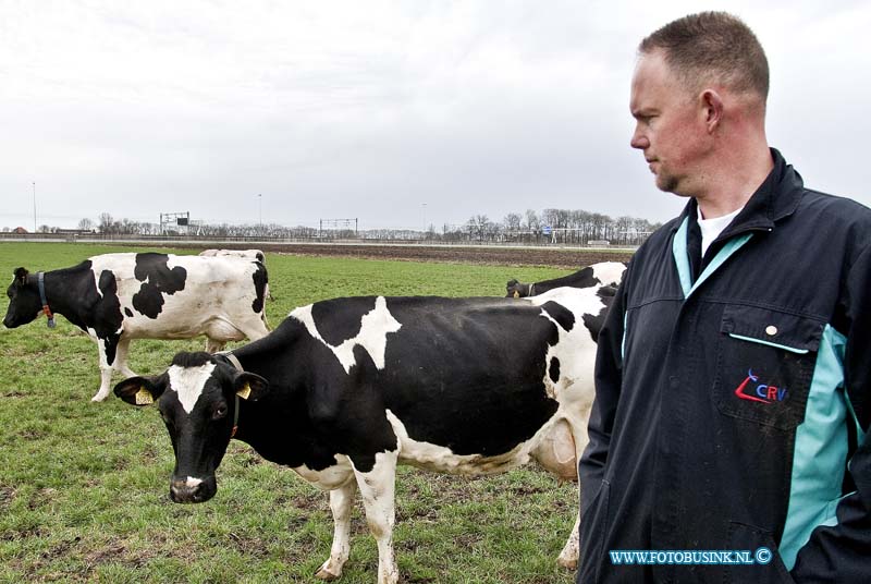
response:
<svg viewBox="0 0 871 584"><path fill-rule="evenodd" d="M396 522L395 483L398 450L379 452L369 472L360 472L354 466L357 486L366 508L369 532L378 544L378 584L396 584L400 569L393 557L393 525ZM353 464L353 460L352 460Z"/></svg>

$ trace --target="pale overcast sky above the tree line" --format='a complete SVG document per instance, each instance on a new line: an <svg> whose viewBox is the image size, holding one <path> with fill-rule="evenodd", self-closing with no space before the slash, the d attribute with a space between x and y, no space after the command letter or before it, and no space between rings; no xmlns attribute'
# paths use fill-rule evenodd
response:
<svg viewBox="0 0 871 584"><path fill-rule="evenodd" d="M0 228L33 229L33 183L37 223L69 228L663 221L683 202L629 148L635 50L714 9L768 52L770 143L871 205L867 0L0 0Z"/></svg>

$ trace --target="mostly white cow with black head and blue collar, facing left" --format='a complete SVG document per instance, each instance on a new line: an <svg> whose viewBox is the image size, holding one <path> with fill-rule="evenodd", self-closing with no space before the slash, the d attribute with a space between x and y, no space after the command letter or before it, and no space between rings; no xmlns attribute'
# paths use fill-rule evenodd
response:
<svg viewBox="0 0 871 584"><path fill-rule="evenodd" d="M45 312L62 314L97 343L100 388L107 398L112 369L135 375L127 366L132 339L189 339L205 334L209 350L226 341L266 336L266 268L234 257L168 254L106 254L72 268L32 276L15 270L7 290L3 319L15 328Z"/></svg>

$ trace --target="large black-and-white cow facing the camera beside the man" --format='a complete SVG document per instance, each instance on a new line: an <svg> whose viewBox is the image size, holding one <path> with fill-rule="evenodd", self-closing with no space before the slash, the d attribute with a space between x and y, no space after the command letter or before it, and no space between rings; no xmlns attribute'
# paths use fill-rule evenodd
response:
<svg viewBox="0 0 871 584"><path fill-rule="evenodd" d="M359 489L378 582L394 583L397 464L492 474L533 459L577 479L593 399L586 325L605 309L597 290L569 288L523 301L323 301L294 309L230 358L179 353L163 374L121 381L114 392L135 405L159 399L176 502L216 494L233 437L329 490L335 525L320 579L342 573ZM567 568L577 567L578 525L560 555Z"/></svg>

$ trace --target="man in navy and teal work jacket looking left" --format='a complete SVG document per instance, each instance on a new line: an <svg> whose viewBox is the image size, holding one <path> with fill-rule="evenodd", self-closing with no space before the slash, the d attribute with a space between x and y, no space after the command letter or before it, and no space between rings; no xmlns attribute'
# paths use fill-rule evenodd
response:
<svg viewBox="0 0 871 584"><path fill-rule="evenodd" d="M768 85L729 14L639 47L631 146L689 200L599 337L578 582L871 579L871 210L769 148Z"/></svg>

